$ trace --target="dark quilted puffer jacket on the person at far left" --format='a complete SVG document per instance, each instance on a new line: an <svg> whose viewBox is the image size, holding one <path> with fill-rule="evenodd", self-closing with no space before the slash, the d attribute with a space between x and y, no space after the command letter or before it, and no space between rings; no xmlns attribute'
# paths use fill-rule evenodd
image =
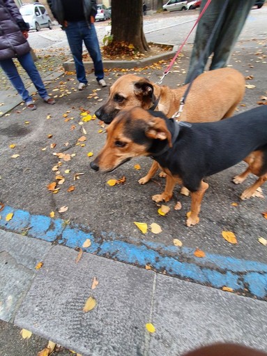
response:
<svg viewBox="0 0 267 356"><path fill-rule="evenodd" d="M0 0L0 61L28 53L31 48L22 31L29 30L13 0Z"/></svg>

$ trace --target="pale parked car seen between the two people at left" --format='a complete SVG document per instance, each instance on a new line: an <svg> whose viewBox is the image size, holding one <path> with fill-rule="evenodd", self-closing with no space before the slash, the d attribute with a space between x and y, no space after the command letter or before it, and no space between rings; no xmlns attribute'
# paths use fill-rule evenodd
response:
<svg viewBox="0 0 267 356"><path fill-rule="evenodd" d="M25 3L20 8L23 20L28 22L30 29L40 31L42 27L52 29L52 21L45 6L40 3Z"/></svg>

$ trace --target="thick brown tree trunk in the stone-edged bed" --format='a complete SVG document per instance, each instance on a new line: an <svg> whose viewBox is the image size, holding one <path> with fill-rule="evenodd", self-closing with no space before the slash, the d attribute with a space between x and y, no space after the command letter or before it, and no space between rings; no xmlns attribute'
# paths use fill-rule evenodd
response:
<svg viewBox="0 0 267 356"><path fill-rule="evenodd" d="M139 52L148 52L143 31L142 0L112 0L113 43L134 45Z"/></svg>

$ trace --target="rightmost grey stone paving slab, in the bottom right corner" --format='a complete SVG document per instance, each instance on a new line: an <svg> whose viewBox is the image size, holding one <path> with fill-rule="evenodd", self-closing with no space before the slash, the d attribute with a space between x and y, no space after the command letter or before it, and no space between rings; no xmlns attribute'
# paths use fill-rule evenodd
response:
<svg viewBox="0 0 267 356"><path fill-rule="evenodd" d="M211 343L267 350L267 303L157 274L149 356L178 356Z"/></svg>

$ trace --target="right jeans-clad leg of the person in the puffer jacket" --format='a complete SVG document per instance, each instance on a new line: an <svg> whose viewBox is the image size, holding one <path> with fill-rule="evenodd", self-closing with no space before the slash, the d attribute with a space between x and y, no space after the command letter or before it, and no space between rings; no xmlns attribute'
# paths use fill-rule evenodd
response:
<svg viewBox="0 0 267 356"><path fill-rule="evenodd" d="M43 80L40 77L36 65L34 64L33 57L31 57L31 53L30 52L26 53L23 56L18 57L17 59L22 65L22 68L24 68L26 73L31 78L31 81L33 82L34 86L38 90L38 94L40 95L40 97L43 99L47 98L48 97L47 90L45 89Z"/></svg>

